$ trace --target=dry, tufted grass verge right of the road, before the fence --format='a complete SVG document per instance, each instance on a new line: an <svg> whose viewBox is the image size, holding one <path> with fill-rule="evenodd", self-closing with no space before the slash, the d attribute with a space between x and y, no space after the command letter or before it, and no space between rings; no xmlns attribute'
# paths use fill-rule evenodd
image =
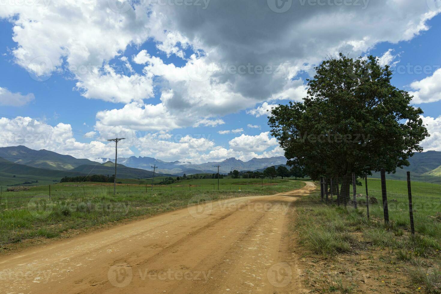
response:
<svg viewBox="0 0 441 294"><path fill-rule="evenodd" d="M325 205L319 191L295 208L292 250L311 292L441 293L441 235L422 230L414 237L399 221L367 220L361 207ZM425 222L435 230L440 225Z"/></svg>

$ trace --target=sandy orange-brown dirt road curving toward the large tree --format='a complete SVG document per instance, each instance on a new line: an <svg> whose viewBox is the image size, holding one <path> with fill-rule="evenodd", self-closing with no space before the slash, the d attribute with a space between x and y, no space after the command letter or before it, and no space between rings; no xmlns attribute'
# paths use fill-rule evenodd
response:
<svg viewBox="0 0 441 294"><path fill-rule="evenodd" d="M296 196L314 189L196 205L3 256L0 292L299 293L286 223Z"/></svg>

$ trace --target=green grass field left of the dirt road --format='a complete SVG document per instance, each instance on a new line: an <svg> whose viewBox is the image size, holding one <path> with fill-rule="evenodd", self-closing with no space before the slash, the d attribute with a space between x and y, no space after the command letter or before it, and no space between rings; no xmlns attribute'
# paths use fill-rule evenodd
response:
<svg viewBox="0 0 441 294"><path fill-rule="evenodd" d="M271 195L298 189L302 182L273 180L251 181L221 179L220 190L212 179L183 180L173 185L147 186L149 181L121 180L117 194L108 183L57 183L34 186L30 190L1 193L0 250L7 244L37 237L58 237L72 229L87 229L137 216L152 216L197 201L228 197ZM240 190L239 190L240 189ZM196 199L196 200L195 200ZM6 247L5 247L6 246Z"/></svg>

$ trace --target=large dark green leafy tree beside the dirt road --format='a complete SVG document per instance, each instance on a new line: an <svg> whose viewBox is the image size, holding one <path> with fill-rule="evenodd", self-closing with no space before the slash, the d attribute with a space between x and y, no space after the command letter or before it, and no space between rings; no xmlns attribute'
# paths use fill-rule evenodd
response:
<svg viewBox="0 0 441 294"><path fill-rule="evenodd" d="M408 166L428 133L422 109L413 107L409 93L392 86L391 78L389 66L374 56L340 54L316 67L303 103L279 105L269 117L288 164L304 167L312 179Z"/></svg>

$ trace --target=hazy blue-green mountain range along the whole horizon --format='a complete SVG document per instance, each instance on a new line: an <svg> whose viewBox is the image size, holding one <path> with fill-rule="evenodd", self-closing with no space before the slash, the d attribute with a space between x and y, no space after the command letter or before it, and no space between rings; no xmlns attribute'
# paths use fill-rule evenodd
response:
<svg viewBox="0 0 441 294"><path fill-rule="evenodd" d="M0 148L0 185L17 185L24 182L47 184L59 181L68 176L113 175L114 160L102 158L101 162L88 159L77 159L73 156L62 155L45 149L33 150L25 146ZM439 182L441 175L441 152L427 151L415 153L409 159L410 166L398 168L395 174L387 175L388 179L406 179L406 172L411 171L411 177L417 181ZM176 176L192 175L219 171L227 174L230 171L263 171L269 166L286 164L283 156L271 158L253 158L248 161L228 158L219 162L192 164L186 161L163 161L153 157L118 158L118 178L146 179L153 175L153 165L156 165L156 175ZM285 165L286 166L286 165ZM374 173L374 177L380 177Z"/></svg>

